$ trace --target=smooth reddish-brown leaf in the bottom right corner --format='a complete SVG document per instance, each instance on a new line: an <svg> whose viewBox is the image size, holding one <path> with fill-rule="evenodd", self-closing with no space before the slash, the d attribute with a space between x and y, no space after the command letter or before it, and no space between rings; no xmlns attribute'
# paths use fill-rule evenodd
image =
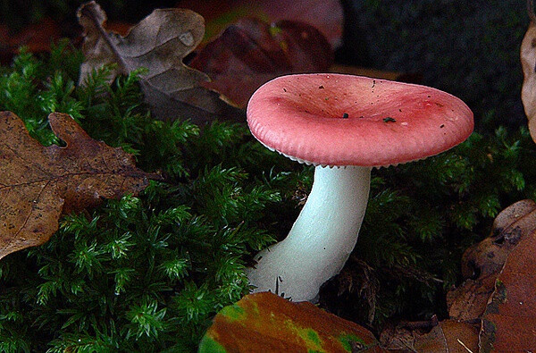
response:
<svg viewBox="0 0 536 353"><path fill-rule="evenodd" d="M536 231L519 240L482 316L482 352L536 350Z"/></svg>

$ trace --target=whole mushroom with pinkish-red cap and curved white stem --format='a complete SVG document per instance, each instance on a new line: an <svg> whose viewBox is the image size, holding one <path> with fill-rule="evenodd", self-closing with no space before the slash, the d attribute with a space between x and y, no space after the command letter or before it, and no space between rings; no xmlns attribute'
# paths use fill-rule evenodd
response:
<svg viewBox="0 0 536 353"><path fill-rule="evenodd" d="M289 235L255 256L248 280L254 291L314 301L356 245L372 168L456 146L473 131L473 113L435 88L314 73L258 88L247 123L265 147L315 165L313 188Z"/></svg>

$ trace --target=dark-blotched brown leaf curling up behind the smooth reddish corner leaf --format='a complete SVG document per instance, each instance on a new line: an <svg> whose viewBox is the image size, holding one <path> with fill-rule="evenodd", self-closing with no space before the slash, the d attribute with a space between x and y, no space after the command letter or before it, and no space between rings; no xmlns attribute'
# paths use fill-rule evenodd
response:
<svg viewBox="0 0 536 353"><path fill-rule="evenodd" d="M493 223L492 236L465 250L462 275L465 282L447 294L451 319L480 319L495 281L518 242L536 230L536 203L522 200L508 206Z"/></svg>

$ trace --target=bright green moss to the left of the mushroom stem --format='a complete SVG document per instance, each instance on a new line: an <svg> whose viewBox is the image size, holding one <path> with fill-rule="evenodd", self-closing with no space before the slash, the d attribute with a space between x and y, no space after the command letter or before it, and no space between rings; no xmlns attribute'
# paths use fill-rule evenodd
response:
<svg viewBox="0 0 536 353"><path fill-rule="evenodd" d="M264 175L259 163L279 157L255 147L243 125L155 121L139 72L109 85L105 67L77 87L78 73L58 66L72 58L80 65L65 44L43 58L23 52L3 68L0 110L45 145L62 143L47 113L71 113L164 181L65 215L44 246L0 262L0 315L10 318L0 350L193 351L214 314L247 293L244 268L275 238L281 212L271 208L295 180Z"/></svg>

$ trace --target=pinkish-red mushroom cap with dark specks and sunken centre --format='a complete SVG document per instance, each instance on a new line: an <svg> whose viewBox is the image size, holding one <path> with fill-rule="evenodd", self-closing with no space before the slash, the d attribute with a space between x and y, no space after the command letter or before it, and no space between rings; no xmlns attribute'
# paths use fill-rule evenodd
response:
<svg viewBox="0 0 536 353"><path fill-rule="evenodd" d="M313 73L258 88L247 123L266 147L307 164L381 166L456 146L473 131L473 113L439 89Z"/></svg>

